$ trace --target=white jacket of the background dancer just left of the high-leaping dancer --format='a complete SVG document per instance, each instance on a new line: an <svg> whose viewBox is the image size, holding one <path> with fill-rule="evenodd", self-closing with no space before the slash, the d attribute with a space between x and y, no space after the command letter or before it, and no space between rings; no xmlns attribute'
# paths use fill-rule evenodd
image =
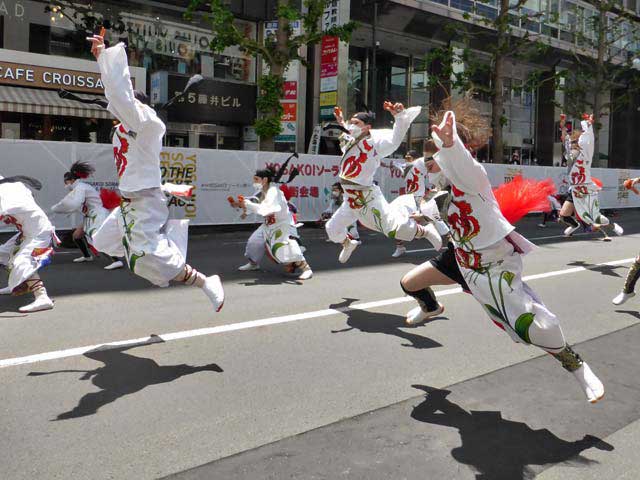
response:
<svg viewBox="0 0 640 480"><path fill-rule="evenodd" d="M82 180L76 180L72 184L72 190L51 207L51 210L66 214L81 212L82 227L90 244L93 234L109 216L109 210L102 206L102 199L96 189Z"/></svg>

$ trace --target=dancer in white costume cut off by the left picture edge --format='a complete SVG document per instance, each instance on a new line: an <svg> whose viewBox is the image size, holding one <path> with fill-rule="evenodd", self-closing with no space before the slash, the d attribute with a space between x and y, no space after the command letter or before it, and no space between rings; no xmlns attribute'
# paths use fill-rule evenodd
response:
<svg viewBox="0 0 640 480"><path fill-rule="evenodd" d="M18 229L0 246L0 264L9 270L9 285L0 294L33 293L35 301L20 307L22 313L51 310L53 301L38 271L51 263L52 245L57 242L55 230L19 179L0 176L0 221Z"/></svg>

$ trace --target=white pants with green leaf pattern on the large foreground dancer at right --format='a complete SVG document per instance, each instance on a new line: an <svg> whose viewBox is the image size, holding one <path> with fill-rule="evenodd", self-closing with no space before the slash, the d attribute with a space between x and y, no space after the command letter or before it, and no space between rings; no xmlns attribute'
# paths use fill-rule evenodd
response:
<svg viewBox="0 0 640 480"><path fill-rule="evenodd" d="M565 347L558 319L522 281L522 255L510 242L476 252L456 248L456 261L473 297L515 342L551 353Z"/></svg>

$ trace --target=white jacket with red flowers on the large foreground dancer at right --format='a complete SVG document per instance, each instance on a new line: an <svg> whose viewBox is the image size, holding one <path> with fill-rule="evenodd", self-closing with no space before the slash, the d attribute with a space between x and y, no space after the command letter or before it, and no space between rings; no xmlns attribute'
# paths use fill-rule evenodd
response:
<svg viewBox="0 0 640 480"><path fill-rule="evenodd" d="M435 137L441 147L442 142ZM458 260L473 268L477 250L486 249L510 236L515 227L502 215L484 167L471 156L458 137L455 119L453 145L441 147L434 159L452 185L449 226ZM520 243L520 238L517 243ZM469 257L469 261L462 261L461 255Z"/></svg>

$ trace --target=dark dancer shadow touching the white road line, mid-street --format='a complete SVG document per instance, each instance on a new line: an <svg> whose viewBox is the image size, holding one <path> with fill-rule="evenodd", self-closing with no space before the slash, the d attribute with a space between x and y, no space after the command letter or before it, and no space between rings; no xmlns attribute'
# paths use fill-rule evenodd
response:
<svg viewBox="0 0 640 480"><path fill-rule="evenodd" d="M342 330L331 330L331 333L349 332L353 329L360 330L364 333L384 333L385 335L393 335L401 338L409 343L403 343L403 347L412 347L418 349L437 348L442 344L428 337L416 335L407 332L405 329L414 329L418 327L410 327L405 323L405 318L401 315L393 315L389 313L376 313L366 310L358 310L349 308L353 303L357 302L357 298L345 298L344 302L329 305L329 308L341 310L347 315L347 325L349 328ZM444 317L437 317L444 319ZM434 319L435 320L435 319ZM433 321L433 320L432 320Z"/></svg>

